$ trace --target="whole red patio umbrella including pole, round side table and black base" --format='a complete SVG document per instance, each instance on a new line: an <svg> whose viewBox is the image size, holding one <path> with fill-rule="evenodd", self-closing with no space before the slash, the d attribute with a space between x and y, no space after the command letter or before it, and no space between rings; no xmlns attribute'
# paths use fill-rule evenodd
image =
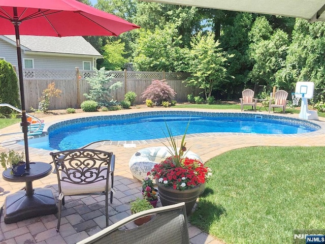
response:
<svg viewBox="0 0 325 244"><path fill-rule="evenodd" d="M117 16L92 8L76 0L0 0L0 35L16 35L18 74L21 97L21 126L24 133L26 175L12 176L3 172L3 178L26 182L25 191L6 197L5 223L30 217L55 214L57 207L50 189L33 189L32 180L50 174L48 164L37 162L30 168L25 111L24 82L19 34L34 36L117 36L138 25Z"/></svg>

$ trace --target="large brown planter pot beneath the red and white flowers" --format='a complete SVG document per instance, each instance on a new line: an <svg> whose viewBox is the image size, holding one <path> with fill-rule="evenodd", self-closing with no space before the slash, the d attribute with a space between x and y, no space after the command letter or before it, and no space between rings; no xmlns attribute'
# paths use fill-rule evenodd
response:
<svg viewBox="0 0 325 244"><path fill-rule="evenodd" d="M158 193L161 205L167 206L175 203L185 202L186 215L190 215L192 208L196 203L197 198L199 197L201 189L200 185L188 190L179 191L174 190L170 187L165 187L163 184L160 184L157 181L156 183L158 186Z"/></svg>

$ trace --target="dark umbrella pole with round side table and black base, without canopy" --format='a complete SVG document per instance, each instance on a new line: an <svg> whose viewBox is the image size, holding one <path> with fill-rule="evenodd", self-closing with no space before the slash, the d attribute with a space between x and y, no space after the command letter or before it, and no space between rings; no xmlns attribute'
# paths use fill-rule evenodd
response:
<svg viewBox="0 0 325 244"><path fill-rule="evenodd" d="M48 188L32 188L32 181L41 179L52 172L52 166L43 162L29 162L28 152L28 125L25 109L25 96L24 96L24 82L22 73L22 59L19 38L19 24L17 17L17 8L13 8L14 19L12 23L15 25L16 45L17 45L17 58L18 58L18 74L20 85L20 98L21 98L21 126L24 134L25 145L25 160L26 169L25 173L20 176L11 174L11 169L3 172L3 178L11 182L25 182L26 187L24 190L15 192L8 195L5 199L4 205L4 220L6 224L18 222L24 219L56 214L57 206L56 201L51 189Z"/></svg>

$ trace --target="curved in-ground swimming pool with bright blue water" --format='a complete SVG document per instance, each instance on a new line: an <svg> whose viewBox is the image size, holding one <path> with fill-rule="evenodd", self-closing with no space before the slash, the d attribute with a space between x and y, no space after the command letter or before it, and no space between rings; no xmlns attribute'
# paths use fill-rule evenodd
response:
<svg viewBox="0 0 325 244"><path fill-rule="evenodd" d="M78 118L54 124L41 142L29 140L29 146L48 150L82 147L99 140L137 141L166 138L168 127L174 136L208 132L297 134L319 130L306 120L250 113L212 113L188 111L140 112Z"/></svg>

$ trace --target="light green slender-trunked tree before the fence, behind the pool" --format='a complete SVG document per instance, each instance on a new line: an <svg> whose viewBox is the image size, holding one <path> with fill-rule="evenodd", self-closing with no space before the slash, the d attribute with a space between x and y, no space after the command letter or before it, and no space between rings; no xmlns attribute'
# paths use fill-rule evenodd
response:
<svg viewBox="0 0 325 244"><path fill-rule="evenodd" d="M229 55L219 48L219 41L214 41L214 33L199 33L192 38L189 52L189 72L192 76L187 84L204 90L205 99L212 91L223 89L226 82L226 62Z"/></svg>

